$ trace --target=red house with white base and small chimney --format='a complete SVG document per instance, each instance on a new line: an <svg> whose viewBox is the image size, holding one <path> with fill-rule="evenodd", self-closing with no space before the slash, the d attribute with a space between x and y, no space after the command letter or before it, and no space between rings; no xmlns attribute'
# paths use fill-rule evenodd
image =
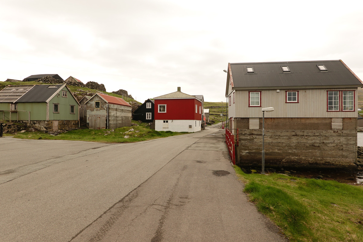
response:
<svg viewBox="0 0 363 242"><path fill-rule="evenodd" d="M196 132L201 130L202 102L178 91L154 98L155 130Z"/></svg>

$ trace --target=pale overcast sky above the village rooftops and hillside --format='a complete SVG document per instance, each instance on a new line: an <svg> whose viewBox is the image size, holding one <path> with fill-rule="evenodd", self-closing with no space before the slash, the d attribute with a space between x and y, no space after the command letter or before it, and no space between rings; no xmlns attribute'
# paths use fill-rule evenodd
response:
<svg viewBox="0 0 363 242"><path fill-rule="evenodd" d="M363 79L363 1L0 0L0 81L70 75L137 101L226 100L228 62L343 60Z"/></svg>

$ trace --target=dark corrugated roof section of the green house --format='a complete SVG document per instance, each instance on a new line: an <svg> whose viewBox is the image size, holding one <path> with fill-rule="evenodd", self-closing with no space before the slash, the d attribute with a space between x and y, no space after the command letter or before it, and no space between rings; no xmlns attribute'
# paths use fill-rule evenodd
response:
<svg viewBox="0 0 363 242"><path fill-rule="evenodd" d="M63 84L59 85L35 85L23 97L19 98L17 103L29 102L46 102L54 93L56 93Z"/></svg>

